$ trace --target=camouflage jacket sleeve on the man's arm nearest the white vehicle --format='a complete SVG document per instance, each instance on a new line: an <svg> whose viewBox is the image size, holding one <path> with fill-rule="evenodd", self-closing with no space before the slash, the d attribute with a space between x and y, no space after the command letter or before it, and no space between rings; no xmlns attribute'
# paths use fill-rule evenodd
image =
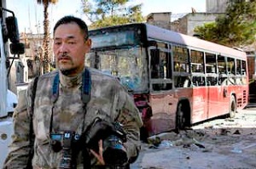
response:
<svg viewBox="0 0 256 169"><path fill-rule="evenodd" d="M9 155L5 159L4 169L26 168L32 146L30 143L31 100L30 85L20 91L18 104L13 115L14 134L9 145Z"/></svg>

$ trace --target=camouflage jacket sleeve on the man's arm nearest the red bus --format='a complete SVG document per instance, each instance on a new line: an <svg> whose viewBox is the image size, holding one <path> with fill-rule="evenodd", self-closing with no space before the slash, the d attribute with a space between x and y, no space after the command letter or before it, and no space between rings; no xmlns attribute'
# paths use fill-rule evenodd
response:
<svg viewBox="0 0 256 169"><path fill-rule="evenodd" d="M128 93L121 91L119 93L119 98L124 99L124 102L118 117L118 121L124 125L127 137L127 142L124 145L129 162L132 163L137 159L141 149L140 127L142 127L143 121L141 119L139 110L137 110L132 97Z"/></svg>

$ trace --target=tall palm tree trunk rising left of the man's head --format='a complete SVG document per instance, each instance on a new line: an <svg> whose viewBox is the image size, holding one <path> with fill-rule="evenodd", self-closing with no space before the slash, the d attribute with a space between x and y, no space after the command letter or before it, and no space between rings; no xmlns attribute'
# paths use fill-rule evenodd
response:
<svg viewBox="0 0 256 169"><path fill-rule="evenodd" d="M43 62L44 66L44 73L49 72L49 13L48 13L48 7L50 3L57 3L58 0L38 0L39 4L44 5L44 42L43 42L43 58L41 59L41 64Z"/></svg>

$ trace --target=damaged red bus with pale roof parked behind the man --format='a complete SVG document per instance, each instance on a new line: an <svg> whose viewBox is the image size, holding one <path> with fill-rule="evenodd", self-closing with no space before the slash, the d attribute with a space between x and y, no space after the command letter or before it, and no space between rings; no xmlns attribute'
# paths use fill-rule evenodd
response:
<svg viewBox="0 0 256 169"><path fill-rule="evenodd" d="M148 24L91 30L87 66L131 92L148 136L183 129L247 105L247 56Z"/></svg>

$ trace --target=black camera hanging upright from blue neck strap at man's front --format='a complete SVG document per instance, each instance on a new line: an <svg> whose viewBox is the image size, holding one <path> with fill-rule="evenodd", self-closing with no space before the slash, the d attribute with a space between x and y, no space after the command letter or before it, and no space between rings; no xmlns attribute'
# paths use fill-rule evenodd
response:
<svg viewBox="0 0 256 169"><path fill-rule="evenodd" d="M62 149L62 157L59 168L76 168L75 147L79 141L79 134L75 132L51 133L51 149L56 153Z"/></svg>

